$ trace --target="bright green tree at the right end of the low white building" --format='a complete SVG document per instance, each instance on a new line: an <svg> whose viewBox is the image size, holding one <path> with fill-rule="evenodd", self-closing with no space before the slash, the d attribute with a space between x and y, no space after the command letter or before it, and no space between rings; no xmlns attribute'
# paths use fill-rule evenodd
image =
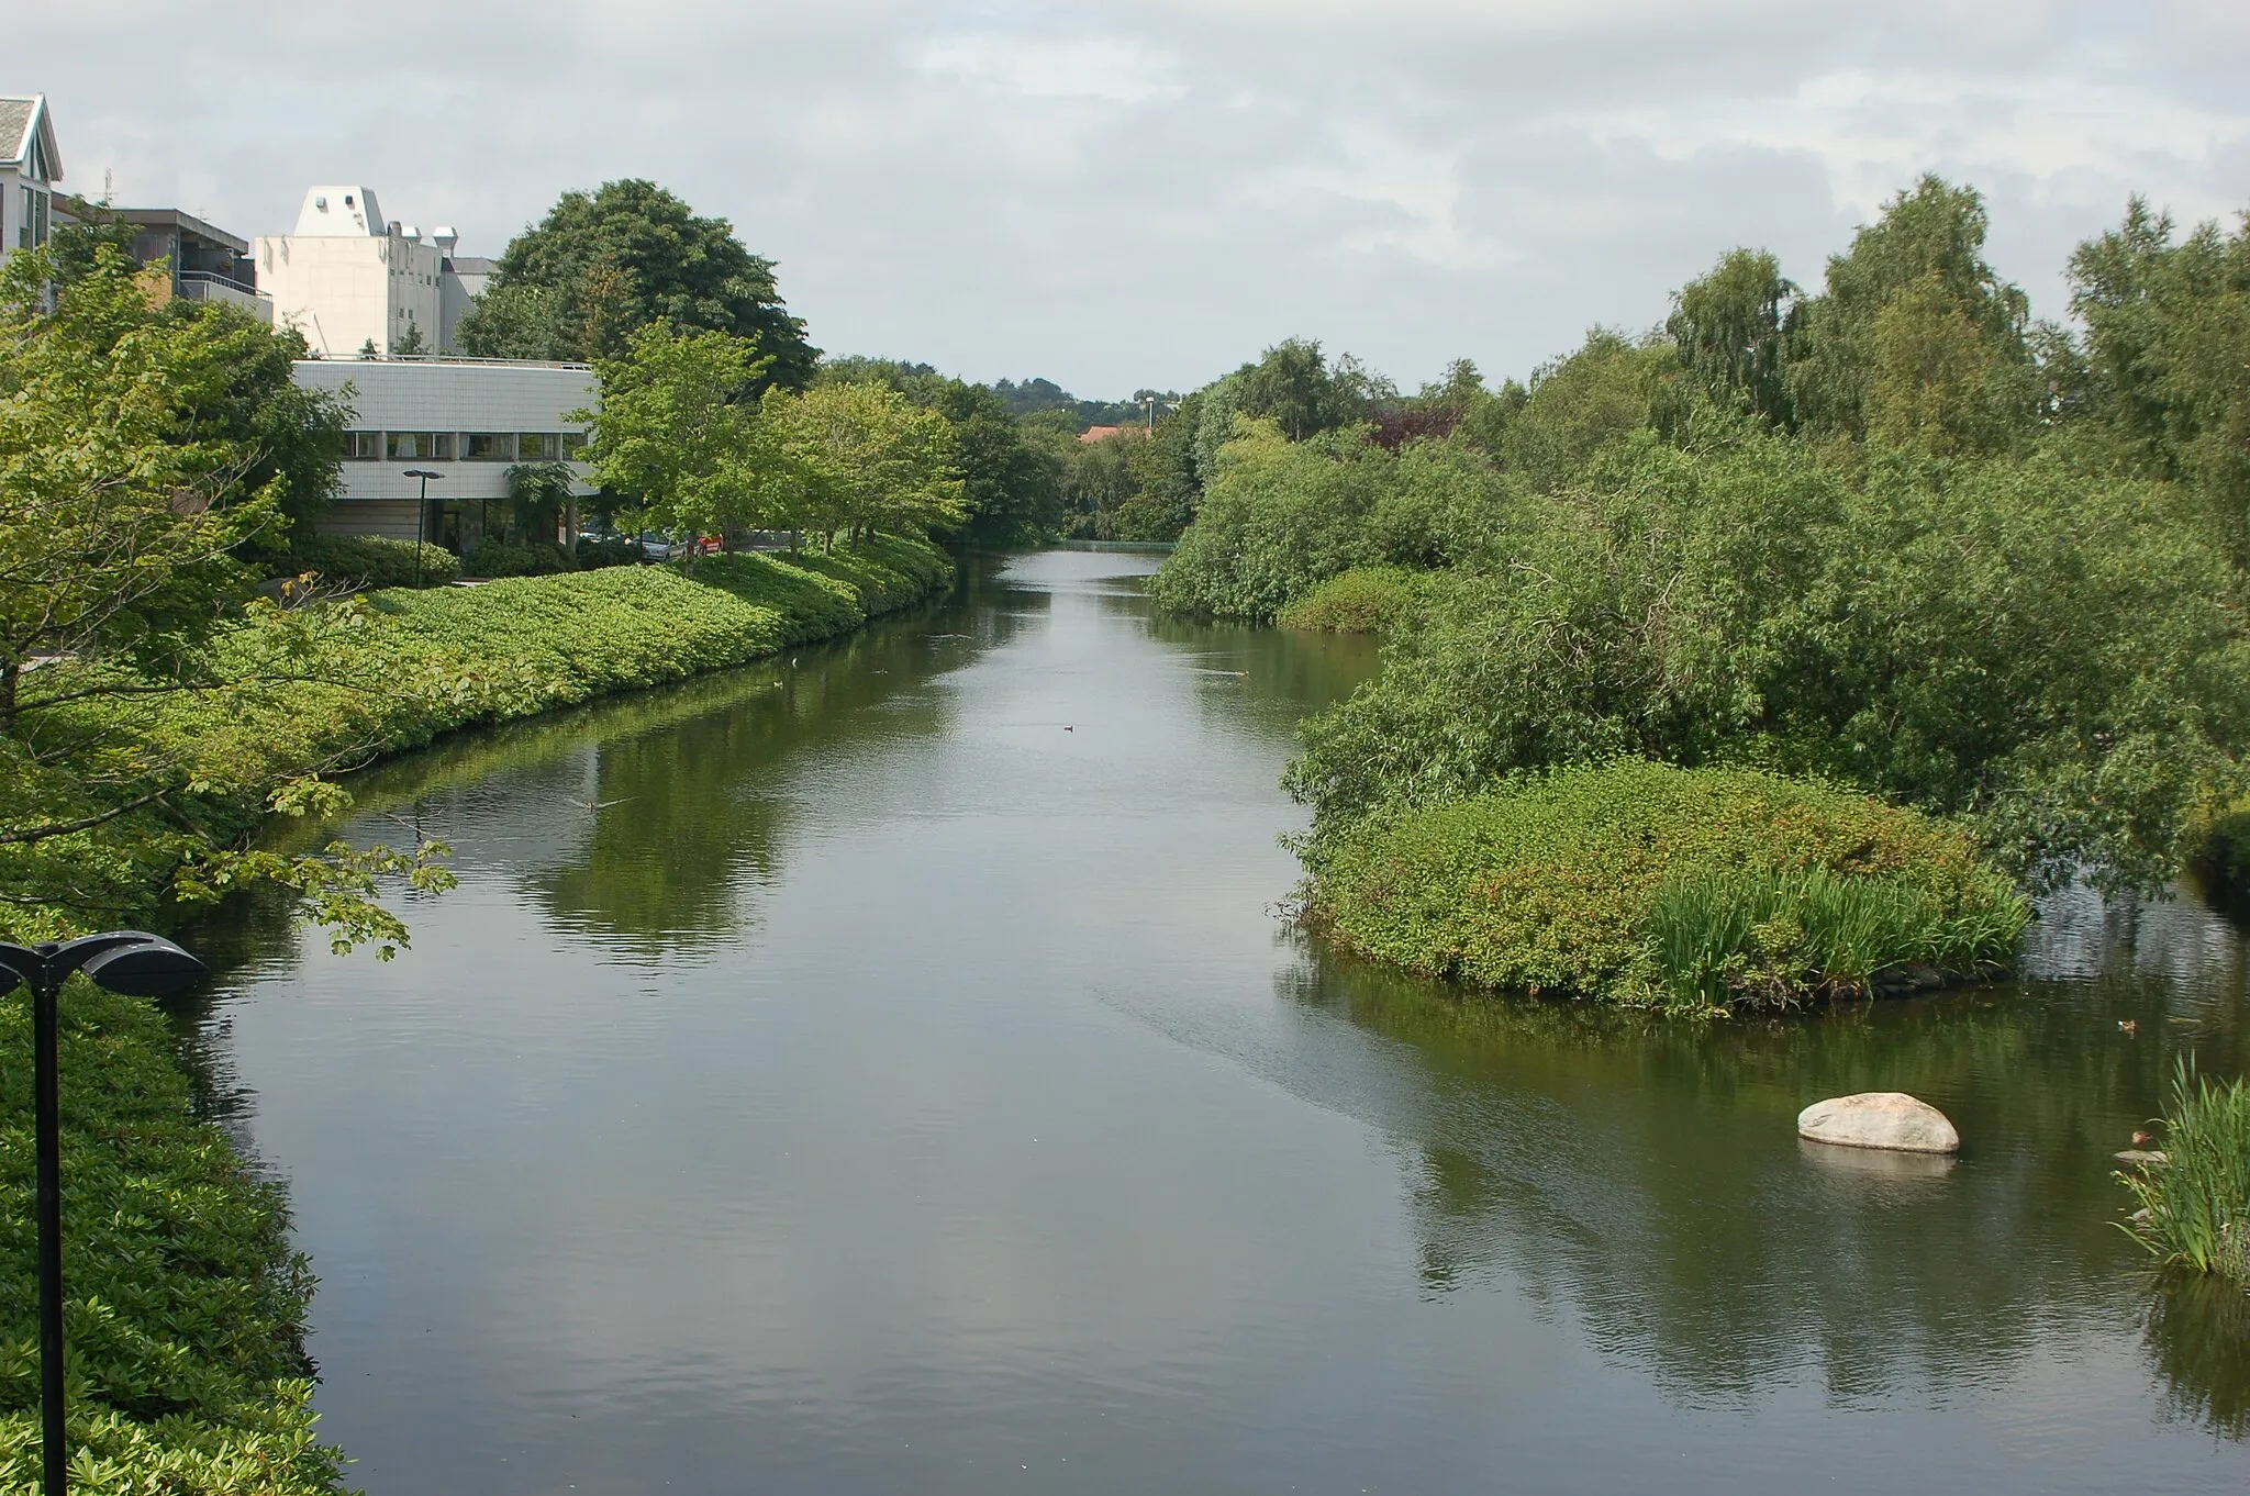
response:
<svg viewBox="0 0 2250 1496"><path fill-rule="evenodd" d="M767 360L749 337L657 319L596 360L594 481L668 531L727 533L774 517L778 445L754 396Z"/></svg>

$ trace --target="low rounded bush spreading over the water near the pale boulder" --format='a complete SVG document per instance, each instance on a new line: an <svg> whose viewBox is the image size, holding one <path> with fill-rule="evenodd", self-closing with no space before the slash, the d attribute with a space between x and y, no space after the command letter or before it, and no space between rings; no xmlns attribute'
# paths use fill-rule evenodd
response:
<svg viewBox="0 0 2250 1496"><path fill-rule="evenodd" d="M1307 848L1307 916L1431 976L1640 1006L1976 974L2030 920L1966 835L1757 769L1582 765Z"/></svg>

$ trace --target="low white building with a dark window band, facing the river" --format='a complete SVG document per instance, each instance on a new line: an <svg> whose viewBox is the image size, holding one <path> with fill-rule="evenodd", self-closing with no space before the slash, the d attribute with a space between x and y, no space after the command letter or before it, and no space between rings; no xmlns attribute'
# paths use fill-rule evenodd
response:
<svg viewBox="0 0 2250 1496"><path fill-rule="evenodd" d="M344 436L344 481L322 522L331 535L392 535L468 549L497 529L495 499L508 497L515 463L567 461L587 488L585 423L601 389L587 364L500 360L346 360L297 362L302 389L326 389L351 405ZM416 515L423 481L407 470L441 472L430 508Z"/></svg>

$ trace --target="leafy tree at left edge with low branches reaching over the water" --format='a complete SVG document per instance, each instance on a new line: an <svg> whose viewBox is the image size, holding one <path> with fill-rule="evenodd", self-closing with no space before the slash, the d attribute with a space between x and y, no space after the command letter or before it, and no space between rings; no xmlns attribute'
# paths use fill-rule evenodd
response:
<svg viewBox="0 0 2250 1496"><path fill-rule="evenodd" d="M164 884L274 882L346 945L389 943L405 931L371 902L374 880L443 882L434 846L223 850L214 823L227 819L212 801L252 787L230 787L234 765L207 763L153 720L166 702L308 679L320 641L362 619L351 605L284 612L254 598L259 571L238 560L288 524L292 477L272 448L310 463L326 441L328 481L340 457L328 405L256 396L274 362L286 380L295 346L232 313L151 310L110 243L68 272L45 250L0 270L0 925L11 931L29 922L40 938L140 909ZM274 808L346 801L310 778L333 758L277 756L277 767Z"/></svg>

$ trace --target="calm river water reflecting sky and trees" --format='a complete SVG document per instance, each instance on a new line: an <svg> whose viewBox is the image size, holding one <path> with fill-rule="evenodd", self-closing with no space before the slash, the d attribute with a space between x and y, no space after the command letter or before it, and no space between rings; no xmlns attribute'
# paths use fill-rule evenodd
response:
<svg viewBox="0 0 2250 1496"><path fill-rule="evenodd" d="M2223 922L2066 902L2041 981L1814 1021L1460 1003L1269 911L1366 643L1141 569L369 776L461 873L389 965L200 934L374 1496L2250 1483L2250 1316L2108 1177L2243 1064ZM1796 1141L1861 1089L1960 1161Z"/></svg>

